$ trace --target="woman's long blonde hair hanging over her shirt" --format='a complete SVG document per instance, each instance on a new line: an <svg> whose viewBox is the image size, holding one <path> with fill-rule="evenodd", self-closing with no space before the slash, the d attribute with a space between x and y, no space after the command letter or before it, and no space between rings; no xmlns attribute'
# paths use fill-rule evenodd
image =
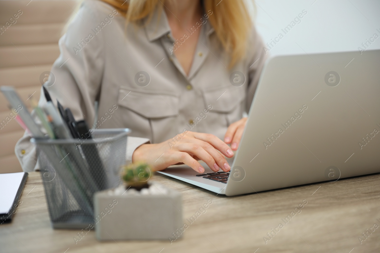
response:
<svg viewBox="0 0 380 253"><path fill-rule="evenodd" d="M156 7L162 8L165 0L102 0L125 16L126 22L138 22L151 17ZM168 0L166 0L168 1ZM229 68L245 55L252 19L245 0L203 0L203 8L211 10L209 21L230 57Z"/></svg>

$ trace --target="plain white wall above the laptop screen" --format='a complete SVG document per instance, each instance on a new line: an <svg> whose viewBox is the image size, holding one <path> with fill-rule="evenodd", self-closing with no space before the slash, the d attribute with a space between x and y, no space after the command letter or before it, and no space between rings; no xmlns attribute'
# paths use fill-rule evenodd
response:
<svg viewBox="0 0 380 253"><path fill-rule="evenodd" d="M284 35L268 46L272 55L364 49L361 44L375 33L379 38L367 48L380 49L380 0L255 0L255 5L255 24L264 42ZM281 29L302 10L307 14L285 34Z"/></svg>

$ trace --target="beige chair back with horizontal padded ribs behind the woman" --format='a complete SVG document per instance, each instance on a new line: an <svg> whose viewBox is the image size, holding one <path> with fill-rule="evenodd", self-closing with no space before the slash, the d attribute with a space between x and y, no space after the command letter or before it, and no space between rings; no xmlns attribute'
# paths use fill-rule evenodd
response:
<svg viewBox="0 0 380 253"><path fill-rule="evenodd" d="M0 85L10 85L30 111L40 97L40 75L59 56L58 40L76 9L74 0L0 0ZM22 171L14 154L24 130L0 93L0 173Z"/></svg>

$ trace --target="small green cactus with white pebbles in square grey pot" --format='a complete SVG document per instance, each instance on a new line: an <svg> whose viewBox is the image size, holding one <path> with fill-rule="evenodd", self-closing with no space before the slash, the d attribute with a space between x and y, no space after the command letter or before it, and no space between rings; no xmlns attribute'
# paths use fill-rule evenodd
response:
<svg viewBox="0 0 380 253"><path fill-rule="evenodd" d="M168 240L183 226L180 193L150 181L147 163L130 163L123 184L94 195L98 240ZM111 208L112 206L112 208Z"/></svg>

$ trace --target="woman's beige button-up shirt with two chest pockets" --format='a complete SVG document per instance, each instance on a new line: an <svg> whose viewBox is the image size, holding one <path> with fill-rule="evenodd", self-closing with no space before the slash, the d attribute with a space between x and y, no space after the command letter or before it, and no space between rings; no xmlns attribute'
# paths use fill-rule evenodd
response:
<svg viewBox="0 0 380 253"><path fill-rule="evenodd" d="M127 28L120 13L98 0L85 0L77 13L59 41L55 82L47 90L54 104L58 99L89 126L99 101L93 128L130 128L128 159L148 139L159 143L185 129L223 139L227 127L249 111L266 60L254 29L246 57L228 69L228 55L203 16L193 27L200 35L187 76L173 53L186 36L175 41L165 11L157 9L145 26ZM45 102L41 95L40 104ZM15 148L24 171L38 168L29 140L25 134Z"/></svg>

